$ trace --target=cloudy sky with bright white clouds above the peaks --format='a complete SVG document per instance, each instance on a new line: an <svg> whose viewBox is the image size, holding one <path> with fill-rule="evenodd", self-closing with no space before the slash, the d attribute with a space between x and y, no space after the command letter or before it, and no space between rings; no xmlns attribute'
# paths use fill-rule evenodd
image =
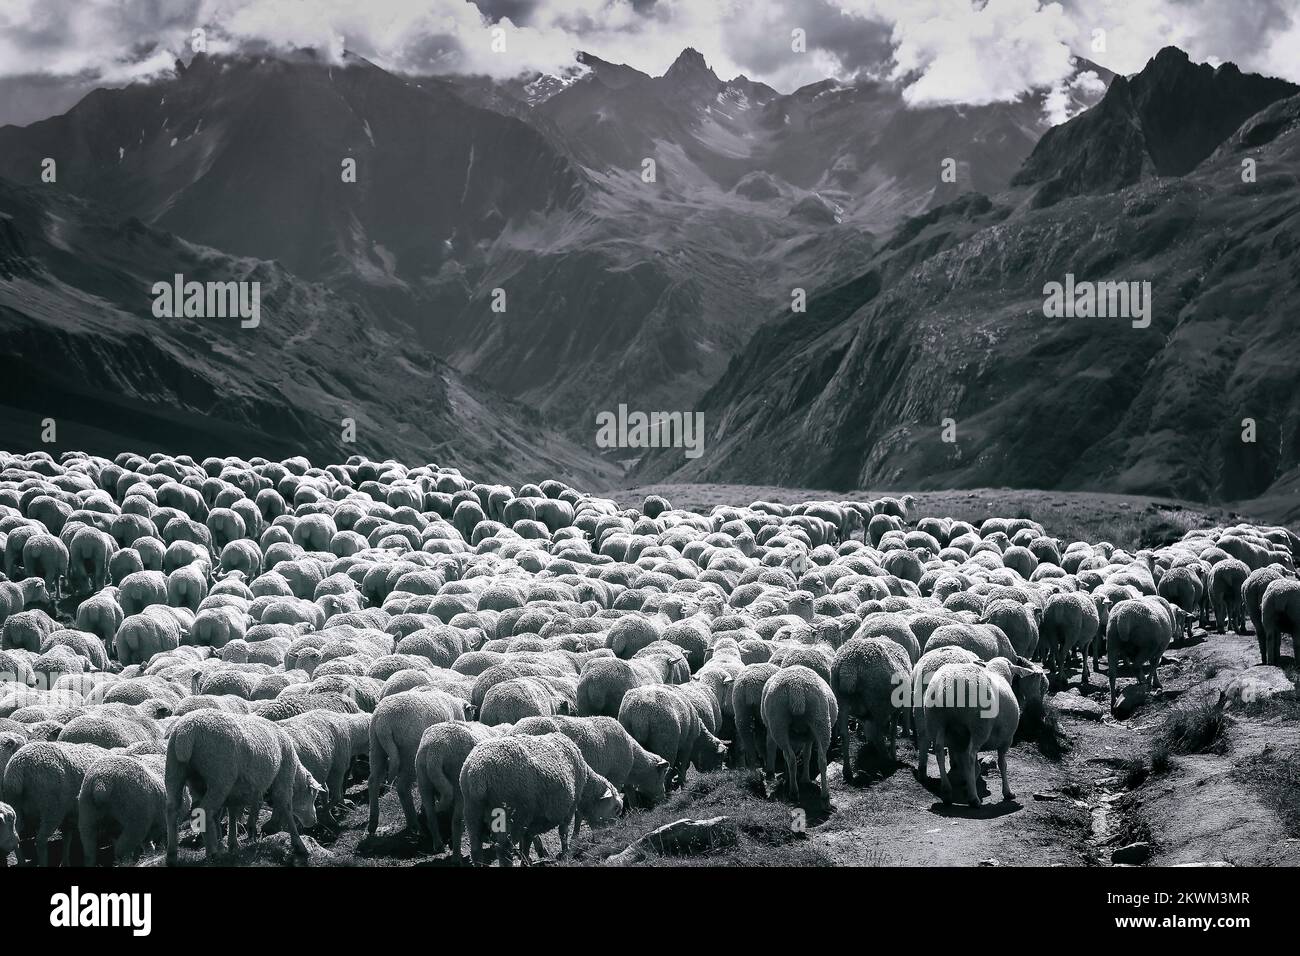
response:
<svg viewBox="0 0 1300 956"><path fill-rule="evenodd" d="M909 103L1058 90L1071 55L1135 73L1161 47L1300 82L1300 0L0 0L0 125L209 52L344 48L391 70L514 77L578 51L663 73L686 47L790 91L900 83Z"/></svg>

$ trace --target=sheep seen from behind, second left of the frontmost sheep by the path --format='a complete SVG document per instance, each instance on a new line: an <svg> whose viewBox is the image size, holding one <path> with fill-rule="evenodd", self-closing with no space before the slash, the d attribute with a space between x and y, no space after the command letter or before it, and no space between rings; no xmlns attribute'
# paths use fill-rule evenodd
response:
<svg viewBox="0 0 1300 956"><path fill-rule="evenodd" d="M910 676L907 652L888 639L854 637L836 652L831 665L831 689L840 715L845 780L853 780L850 717L858 721L859 735L872 744L879 744L884 734L889 760L897 760L894 734L898 717L904 713L902 695Z"/></svg>

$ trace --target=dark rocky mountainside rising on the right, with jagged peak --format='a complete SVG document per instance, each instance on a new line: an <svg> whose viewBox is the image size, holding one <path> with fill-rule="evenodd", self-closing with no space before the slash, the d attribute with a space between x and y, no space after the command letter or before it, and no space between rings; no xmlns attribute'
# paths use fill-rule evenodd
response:
<svg viewBox="0 0 1300 956"><path fill-rule="evenodd" d="M1166 122L1201 104L1223 114ZM1139 160L1101 176L1128 142ZM1071 185L1045 204L1050 182ZM1018 183L906 221L806 316L760 329L701 399L703 457L656 451L637 477L1197 499L1294 484L1295 88L1165 51L1044 137ZM1149 326L1046 317L1045 286L1067 273L1149 281Z"/></svg>

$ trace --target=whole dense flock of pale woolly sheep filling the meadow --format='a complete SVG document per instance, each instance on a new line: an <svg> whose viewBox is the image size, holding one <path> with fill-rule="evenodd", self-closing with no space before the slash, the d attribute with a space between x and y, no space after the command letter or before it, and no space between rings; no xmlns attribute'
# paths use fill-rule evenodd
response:
<svg viewBox="0 0 1300 956"><path fill-rule="evenodd" d="M1089 657L1114 705L1195 618L1249 619L1265 663L1300 624L1282 528L1062 549L914 505L701 515L359 457L0 453L0 865L46 865L56 832L65 862L259 830L306 853L367 771L370 834L391 786L436 849L508 865L692 766L780 770L796 799L819 775L828 801L835 748L852 780L900 731L945 800L979 803L982 750L1010 799L1022 715Z"/></svg>

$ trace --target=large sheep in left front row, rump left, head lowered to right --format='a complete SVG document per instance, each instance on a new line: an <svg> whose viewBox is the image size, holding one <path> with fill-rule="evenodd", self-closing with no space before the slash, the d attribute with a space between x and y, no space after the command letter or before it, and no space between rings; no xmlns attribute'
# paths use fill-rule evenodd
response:
<svg viewBox="0 0 1300 956"><path fill-rule="evenodd" d="M203 843L209 861L217 857L221 812L229 810L228 848L239 852L238 823L248 810L248 840L257 835L257 812L270 792L273 827L287 830L295 853L307 856L299 835L316 825L316 795L322 787L307 773L290 736L263 717L224 710L195 710L177 719L166 745L166 862L178 856L182 797L186 787L202 812ZM277 822L278 821L278 822Z"/></svg>

